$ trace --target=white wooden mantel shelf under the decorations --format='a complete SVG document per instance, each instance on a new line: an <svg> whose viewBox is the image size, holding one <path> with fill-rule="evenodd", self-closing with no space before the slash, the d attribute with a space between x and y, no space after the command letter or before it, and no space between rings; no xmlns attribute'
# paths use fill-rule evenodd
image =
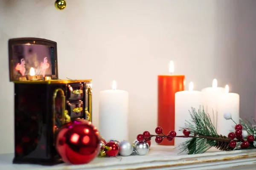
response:
<svg viewBox="0 0 256 170"><path fill-rule="evenodd" d="M0 170L256 170L256 149L177 155L169 146L151 146L145 156L96 158L89 164L41 166L12 164L13 154L0 155ZM121 156L120 156L121 157Z"/></svg>

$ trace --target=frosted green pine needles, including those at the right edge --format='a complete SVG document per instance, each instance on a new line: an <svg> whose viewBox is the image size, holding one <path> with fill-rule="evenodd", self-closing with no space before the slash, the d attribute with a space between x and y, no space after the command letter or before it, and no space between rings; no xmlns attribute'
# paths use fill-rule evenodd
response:
<svg viewBox="0 0 256 170"><path fill-rule="evenodd" d="M219 150L239 150L241 149L241 141L237 141L237 146L235 148L230 147L229 142L231 139L228 139L226 136L218 135L216 127L218 122L215 121L214 113L212 112L212 120L208 113L204 112L204 108L201 111L201 108L198 111L195 108L191 108L189 111L191 120L185 123L185 127L188 128L191 132L190 139L186 140L178 146L180 153L186 152L187 154L198 154L204 153L209 150L211 147L216 147ZM216 119L218 114L216 115ZM256 121L253 119L253 123L247 119L241 120L241 125L243 130L246 130L248 135L253 135L256 139ZM256 141L250 143L248 148L256 148Z"/></svg>

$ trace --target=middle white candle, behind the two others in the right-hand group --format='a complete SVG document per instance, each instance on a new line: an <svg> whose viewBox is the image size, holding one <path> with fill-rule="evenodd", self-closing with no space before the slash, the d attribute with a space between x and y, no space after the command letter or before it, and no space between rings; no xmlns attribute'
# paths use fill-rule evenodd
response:
<svg viewBox="0 0 256 170"><path fill-rule="evenodd" d="M218 87L217 80L214 79L212 87L204 88L201 92L203 93L204 112L209 114L212 121L214 116L216 122L217 99L220 94L225 93L225 88Z"/></svg>

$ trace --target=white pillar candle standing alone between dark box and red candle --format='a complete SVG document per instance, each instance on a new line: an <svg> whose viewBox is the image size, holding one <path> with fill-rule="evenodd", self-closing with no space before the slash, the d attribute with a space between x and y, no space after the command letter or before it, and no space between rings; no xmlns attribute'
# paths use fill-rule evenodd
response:
<svg viewBox="0 0 256 170"><path fill-rule="evenodd" d="M128 140L128 92L112 90L99 94L99 133L106 140Z"/></svg>

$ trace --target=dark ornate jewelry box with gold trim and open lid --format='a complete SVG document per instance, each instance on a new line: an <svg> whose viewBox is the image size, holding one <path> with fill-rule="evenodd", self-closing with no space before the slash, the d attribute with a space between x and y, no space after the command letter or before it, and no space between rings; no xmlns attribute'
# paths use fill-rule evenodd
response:
<svg viewBox="0 0 256 170"><path fill-rule="evenodd" d="M92 121L92 81L58 79L57 43L9 40L10 81L15 84L13 163L56 164L58 128L70 119Z"/></svg>

